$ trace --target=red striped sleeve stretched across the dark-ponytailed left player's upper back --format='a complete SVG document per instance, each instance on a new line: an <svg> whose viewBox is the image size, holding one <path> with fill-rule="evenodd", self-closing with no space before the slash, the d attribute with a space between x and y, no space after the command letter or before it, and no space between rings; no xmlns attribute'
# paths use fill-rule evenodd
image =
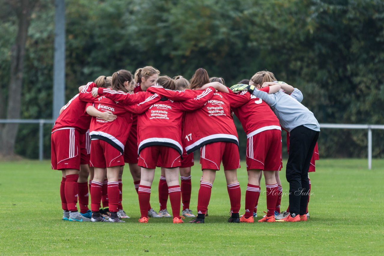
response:
<svg viewBox="0 0 384 256"><path fill-rule="evenodd" d="M114 91L109 88L99 87L98 94L104 96L111 101L122 102L124 104L138 104L146 99L146 97L152 95L150 92L137 92L129 94L122 91Z"/></svg>

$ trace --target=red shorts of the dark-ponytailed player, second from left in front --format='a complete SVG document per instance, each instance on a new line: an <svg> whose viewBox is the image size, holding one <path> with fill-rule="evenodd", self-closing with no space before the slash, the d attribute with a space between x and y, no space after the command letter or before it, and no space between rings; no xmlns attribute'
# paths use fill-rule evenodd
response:
<svg viewBox="0 0 384 256"><path fill-rule="evenodd" d="M124 157L121 152L104 140L92 140L91 143L91 167L107 168L124 165Z"/></svg>

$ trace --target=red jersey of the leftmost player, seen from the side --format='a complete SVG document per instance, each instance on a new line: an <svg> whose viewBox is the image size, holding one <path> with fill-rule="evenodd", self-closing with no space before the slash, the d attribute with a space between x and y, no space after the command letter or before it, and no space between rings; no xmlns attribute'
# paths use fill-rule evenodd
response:
<svg viewBox="0 0 384 256"><path fill-rule="evenodd" d="M87 84L88 92L91 91L91 87ZM85 88L84 88L85 89ZM92 95L91 95L92 97ZM89 98L90 99L90 98ZM79 94L76 94L68 103L64 106L63 112L57 117L55 124L52 128L52 132L56 130L75 128L80 134L85 134L89 129L91 123L91 116L89 116L86 109L87 102L79 99Z"/></svg>

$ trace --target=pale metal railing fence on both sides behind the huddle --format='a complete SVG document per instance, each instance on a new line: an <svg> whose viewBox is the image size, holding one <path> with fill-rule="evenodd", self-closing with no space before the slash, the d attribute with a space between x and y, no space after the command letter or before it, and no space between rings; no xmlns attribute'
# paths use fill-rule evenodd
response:
<svg viewBox="0 0 384 256"><path fill-rule="evenodd" d="M39 160L43 160L43 125L53 124L49 119L0 119L0 124L39 124ZM376 124L320 124L321 129L367 129L368 130L368 169L372 168L372 130L384 130L384 125Z"/></svg>

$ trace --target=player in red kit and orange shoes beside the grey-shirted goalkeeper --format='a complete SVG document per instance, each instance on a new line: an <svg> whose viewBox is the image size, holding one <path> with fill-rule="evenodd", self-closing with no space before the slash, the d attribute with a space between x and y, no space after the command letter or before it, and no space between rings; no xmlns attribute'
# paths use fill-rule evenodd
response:
<svg viewBox="0 0 384 256"><path fill-rule="evenodd" d="M269 74L266 74L267 76ZM251 81L255 87L261 88L265 76L255 75ZM235 85L237 86L237 85ZM266 88L273 93L280 90L280 86ZM246 92L241 92L245 94ZM263 171L266 185L267 214L260 222L274 222L275 208L278 199L278 184L276 174L281 170L281 127L279 120L268 104L255 96L251 96L247 104L234 108L233 112L242 123L247 133L247 171L248 185L245 193L245 214L241 222L253 222L253 212L256 201L260 196L260 173Z"/></svg>

